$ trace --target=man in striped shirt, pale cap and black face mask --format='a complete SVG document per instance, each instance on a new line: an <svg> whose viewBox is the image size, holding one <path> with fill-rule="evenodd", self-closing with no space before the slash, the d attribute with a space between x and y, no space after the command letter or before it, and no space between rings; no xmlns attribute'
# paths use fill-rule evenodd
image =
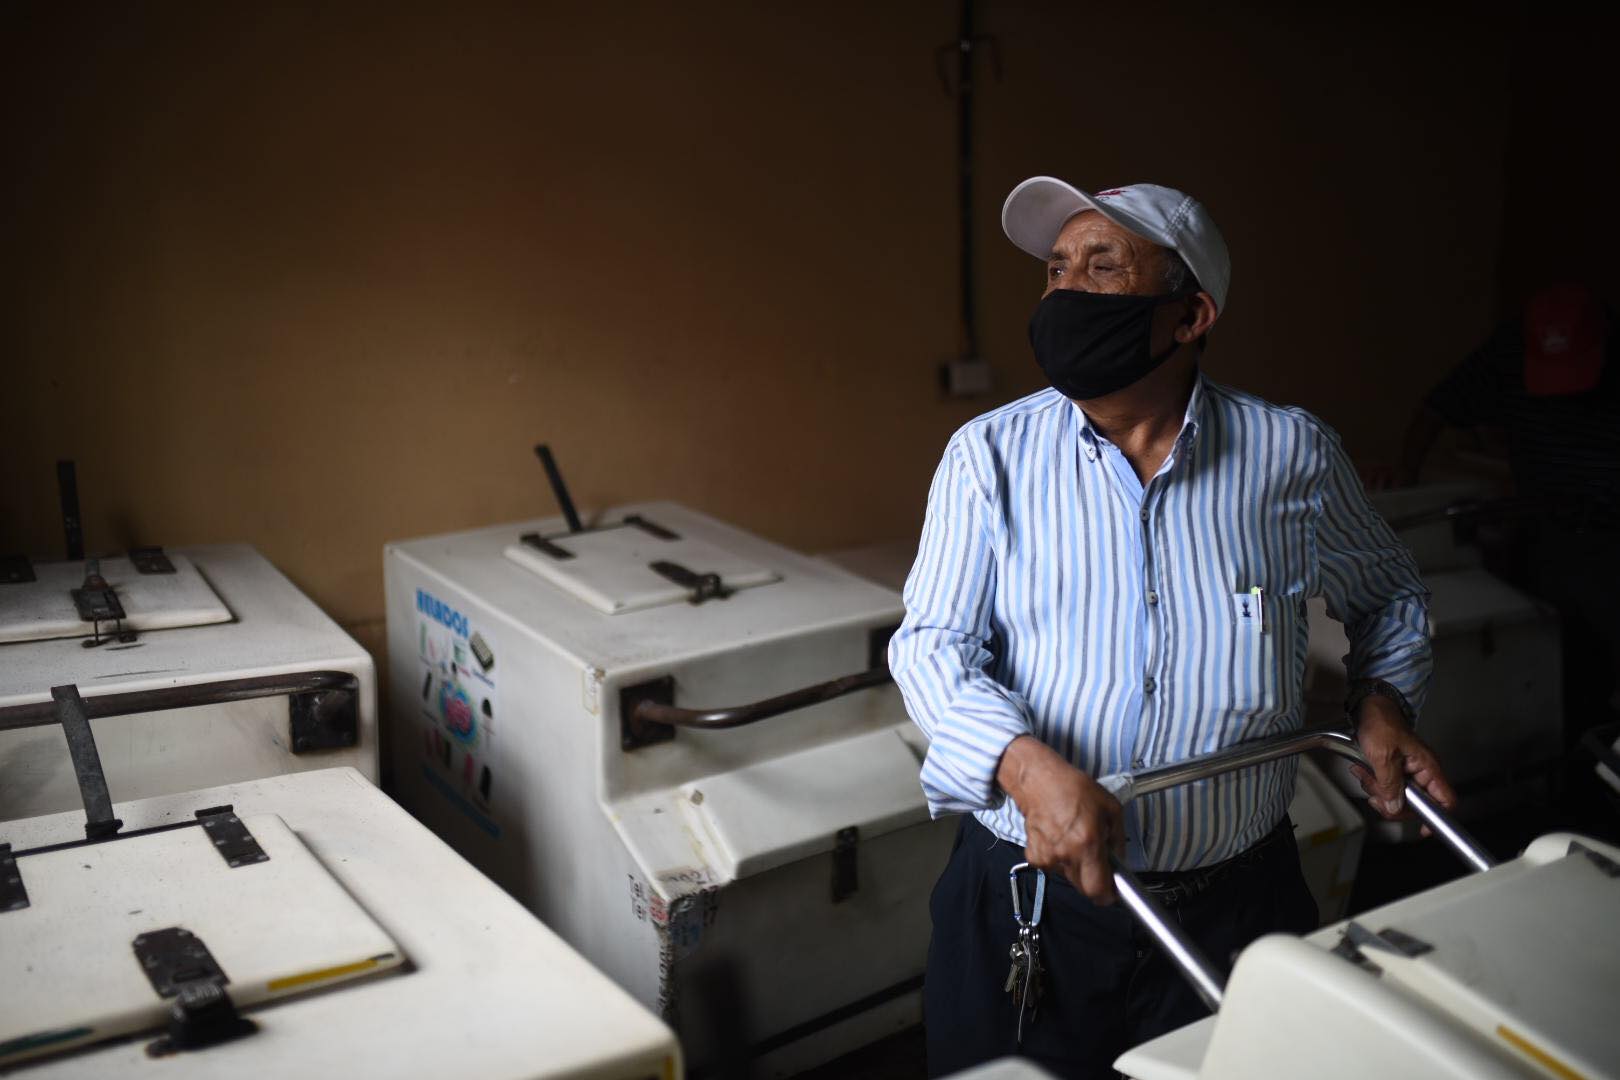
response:
<svg viewBox="0 0 1620 1080"><path fill-rule="evenodd" d="M1427 594L1332 431L1199 372L1230 261L1197 201L1037 176L1001 223L1047 264L1030 345L1053 389L951 439L889 646L930 737L930 810L970 814L932 897L928 1069L1021 1046L1061 1075L1110 1075L1204 1014L1110 907L1110 853L1221 963L1312 928L1315 908L1286 821L1293 763L1123 811L1097 780L1299 727L1304 602L1325 596L1351 640L1369 797L1398 816L1409 779L1450 805L1411 729ZM1008 870L1025 857L1051 876L1034 1017L1004 993Z"/></svg>

